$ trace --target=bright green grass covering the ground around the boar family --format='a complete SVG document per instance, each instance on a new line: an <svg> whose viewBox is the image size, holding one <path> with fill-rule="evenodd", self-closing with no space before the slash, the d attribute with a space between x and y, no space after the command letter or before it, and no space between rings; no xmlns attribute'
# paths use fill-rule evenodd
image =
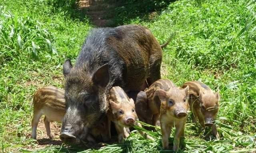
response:
<svg viewBox="0 0 256 153"><path fill-rule="evenodd" d="M138 13L132 9L144 5L127 1L130 14L116 8L117 24L147 26L161 44L176 31L164 49L162 76L177 85L201 80L221 93L216 123L221 139L205 139L188 120L180 152L256 152L255 1L154 2L158 10L161 5L165 9L148 20L143 12L152 11L152 3ZM74 0L0 0L0 5L0 150L30 152L26 148L37 146L29 136L32 95L42 86L62 87L64 59L75 61L93 26ZM150 134L156 142L134 131L121 145L89 150L51 146L32 152L167 152L162 151L160 129Z"/></svg>

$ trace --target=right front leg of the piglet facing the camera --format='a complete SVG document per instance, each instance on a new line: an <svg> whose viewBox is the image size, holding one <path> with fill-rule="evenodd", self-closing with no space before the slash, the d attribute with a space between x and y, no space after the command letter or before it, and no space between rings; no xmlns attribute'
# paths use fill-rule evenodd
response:
<svg viewBox="0 0 256 153"><path fill-rule="evenodd" d="M173 141L173 151L178 151L180 146L180 137L184 135L185 123L176 124L175 126L175 135Z"/></svg>

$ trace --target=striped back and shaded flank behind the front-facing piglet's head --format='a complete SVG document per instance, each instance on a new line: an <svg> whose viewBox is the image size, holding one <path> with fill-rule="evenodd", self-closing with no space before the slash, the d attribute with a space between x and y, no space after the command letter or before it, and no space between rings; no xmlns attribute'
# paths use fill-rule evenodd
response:
<svg viewBox="0 0 256 153"><path fill-rule="evenodd" d="M158 97L158 93L156 90L162 89L168 91L169 88L175 86L175 84L168 79L159 79L154 82L148 89L145 90L147 95L147 104L151 114L148 116L152 116L151 122L147 122L147 124L151 124L153 126L160 126L159 125L159 115L160 115L160 106L161 100Z"/></svg>

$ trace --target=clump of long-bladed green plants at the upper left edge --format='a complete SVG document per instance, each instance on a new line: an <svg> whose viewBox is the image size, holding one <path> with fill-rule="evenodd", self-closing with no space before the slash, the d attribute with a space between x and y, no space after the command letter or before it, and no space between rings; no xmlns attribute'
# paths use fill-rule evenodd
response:
<svg viewBox="0 0 256 153"><path fill-rule="evenodd" d="M12 14L0 6L0 23L0 65L5 60L21 58L21 54L38 58L38 50L48 50L51 55L56 53L52 48L50 33L42 28L41 22L29 16L18 17L18 14Z"/></svg>

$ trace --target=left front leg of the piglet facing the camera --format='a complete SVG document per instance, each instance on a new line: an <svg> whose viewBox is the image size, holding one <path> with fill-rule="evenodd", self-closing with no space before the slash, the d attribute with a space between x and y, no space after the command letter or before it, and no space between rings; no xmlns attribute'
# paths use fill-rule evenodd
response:
<svg viewBox="0 0 256 153"><path fill-rule="evenodd" d="M172 131L172 127L166 124L165 122L161 122L161 132L162 132L162 146L164 150L169 149L169 137Z"/></svg>

